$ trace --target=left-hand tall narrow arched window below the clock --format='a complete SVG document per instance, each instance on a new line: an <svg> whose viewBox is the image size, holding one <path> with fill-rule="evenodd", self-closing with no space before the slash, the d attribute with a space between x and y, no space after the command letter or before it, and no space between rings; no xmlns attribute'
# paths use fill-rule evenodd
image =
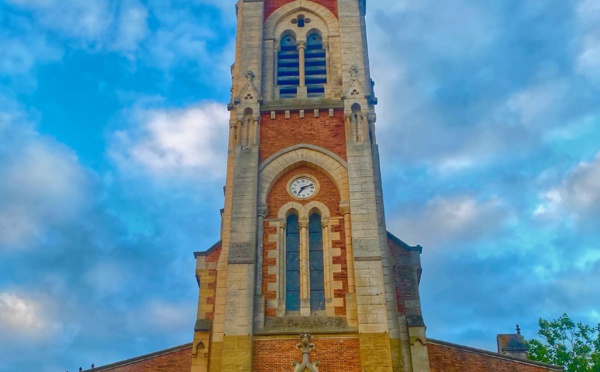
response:
<svg viewBox="0 0 600 372"><path fill-rule="evenodd" d="M300 232L298 216L287 218L285 242L285 308L300 311Z"/></svg>

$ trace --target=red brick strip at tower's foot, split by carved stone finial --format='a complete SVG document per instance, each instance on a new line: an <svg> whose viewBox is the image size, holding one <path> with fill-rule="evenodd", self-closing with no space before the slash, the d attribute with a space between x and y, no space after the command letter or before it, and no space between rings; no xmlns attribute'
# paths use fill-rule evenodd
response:
<svg viewBox="0 0 600 372"><path fill-rule="evenodd" d="M253 372L289 372L292 360L302 362L297 340L255 340ZM327 338L312 340L312 362L320 361L320 371L360 372L358 338Z"/></svg>

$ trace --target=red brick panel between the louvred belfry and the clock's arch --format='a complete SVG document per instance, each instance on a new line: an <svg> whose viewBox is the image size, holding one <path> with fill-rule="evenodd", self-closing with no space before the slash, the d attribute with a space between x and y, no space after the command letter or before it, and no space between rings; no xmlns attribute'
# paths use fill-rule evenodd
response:
<svg viewBox="0 0 600 372"><path fill-rule="evenodd" d="M321 110L315 118L312 111L307 111L301 119L298 112L292 112L289 119L284 113L278 113L276 119L271 114L263 114L260 122L260 160L299 143L325 148L346 160L346 130L344 113L336 112L329 117L329 112Z"/></svg>

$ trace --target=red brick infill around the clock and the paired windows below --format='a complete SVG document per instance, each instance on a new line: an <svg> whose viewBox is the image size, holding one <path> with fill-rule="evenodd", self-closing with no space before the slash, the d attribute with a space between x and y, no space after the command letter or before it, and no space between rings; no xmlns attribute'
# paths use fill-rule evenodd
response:
<svg viewBox="0 0 600 372"><path fill-rule="evenodd" d="M315 195L315 197L301 201L294 199L287 192L287 183L288 181L298 174L309 174L315 177L319 181L319 192ZM299 168L295 168L283 177L281 177L275 185L271 189L269 196L267 197L267 206L269 209L268 218L274 219L277 218L277 214L283 205L290 201L296 201L300 204L308 204L311 201L316 200L319 201L329 208L329 212L331 217L341 217L339 210L340 203L340 194L335 186L335 184L326 177L323 173L317 172L312 168L302 166ZM338 225L333 225L331 227L333 232L340 233L340 239L334 240L332 245L334 248L340 248L341 254L339 256L332 257L333 264L340 264L342 267L341 273L334 274L334 280L341 280L343 283L343 289L335 290L334 297L335 298L343 298L344 306L336 307L335 313L336 315L346 315L346 306L345 306L345 298L346 293L348 292L348 264L346 262L346 237L344 234L344 221L340 220ZM265 300L274 300L276 298L276 293L274 291L268 291L268 284L275 283L276 278L275 275L269 274L269 267L276 266L277 261L274 258L269 257L269 251L277 249L277 243L270 242L268 235L276 234L277 231L275 228L269 227L269 222L266 221L264 225L264 236L263 236L263 293L265 296ZM267 317L275 317L276 309L267 307L265 309L265 314Z"/></svg>

